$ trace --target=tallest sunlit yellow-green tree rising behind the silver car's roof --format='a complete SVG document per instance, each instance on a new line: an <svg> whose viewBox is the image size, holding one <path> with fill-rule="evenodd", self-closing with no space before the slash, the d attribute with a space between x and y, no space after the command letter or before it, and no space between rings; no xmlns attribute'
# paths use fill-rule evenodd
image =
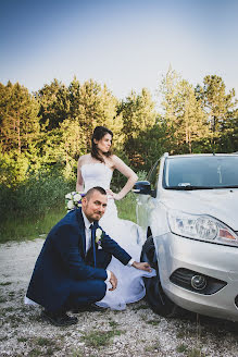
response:
<svg viewBox="0 0 238 357"><path fill-rule="evenodd" d="M171 151L196 152L208 132L206 115L193 87L172 69L161 85L162 109Z"/></svg>

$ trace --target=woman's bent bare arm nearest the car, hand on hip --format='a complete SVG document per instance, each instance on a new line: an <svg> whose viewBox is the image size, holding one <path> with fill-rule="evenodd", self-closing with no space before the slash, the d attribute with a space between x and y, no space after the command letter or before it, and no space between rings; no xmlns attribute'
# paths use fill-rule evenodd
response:
<svg viewBox="0 0 238 357"><path fill-rule="evenodd" d="M117 156L113 155L112 160L113 160L113 168L116 169L116 170L118 170L124 176L126 176L128 178L127 180L127 183L125 184L125 186L121 189L121 192L118 194L114 194L113 192L110 192L110 194L112 195L112 197L114 199L118 200L118 199L122 199L123 197L125 197L126 194L128 194L128 192L133 188L133 186L137 182L138 176Z"/></svg>

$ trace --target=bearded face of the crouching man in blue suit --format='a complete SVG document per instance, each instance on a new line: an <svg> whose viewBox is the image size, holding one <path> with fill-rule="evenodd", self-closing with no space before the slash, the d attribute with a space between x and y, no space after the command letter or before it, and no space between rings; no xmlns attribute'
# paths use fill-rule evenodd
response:
<svg viewBox="0 0 238 357"><path fill-rule="evenodd" d="M104 214L107 202L107 195L102 195L98 190L95 190L89 199L87 197L82 199L82 209L89 222L100 220Z"/></svg>

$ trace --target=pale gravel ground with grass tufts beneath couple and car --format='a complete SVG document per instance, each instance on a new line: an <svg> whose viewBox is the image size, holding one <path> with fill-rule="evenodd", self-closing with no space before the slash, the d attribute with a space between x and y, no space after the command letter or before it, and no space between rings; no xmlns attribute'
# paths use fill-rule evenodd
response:
<svg viewBox="0 0 238 357"><path fill-rule="evenodd" d="M147 301L124 311L78 313L50 325L23 304L43 239L0 245L0 356L238 356L238 324L196 316L165 319Z"/></svg>

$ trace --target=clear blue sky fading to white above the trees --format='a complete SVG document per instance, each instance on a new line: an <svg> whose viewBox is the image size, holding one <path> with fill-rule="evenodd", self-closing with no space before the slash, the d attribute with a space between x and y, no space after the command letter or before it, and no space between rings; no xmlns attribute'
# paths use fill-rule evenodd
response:
<svg viewBox="0 0 238 357"><path fill-rule="evenodd" d="M30 91L92 78L154 95L171 66L238 94L238 0L0 0L0 82Z"/></svg>

